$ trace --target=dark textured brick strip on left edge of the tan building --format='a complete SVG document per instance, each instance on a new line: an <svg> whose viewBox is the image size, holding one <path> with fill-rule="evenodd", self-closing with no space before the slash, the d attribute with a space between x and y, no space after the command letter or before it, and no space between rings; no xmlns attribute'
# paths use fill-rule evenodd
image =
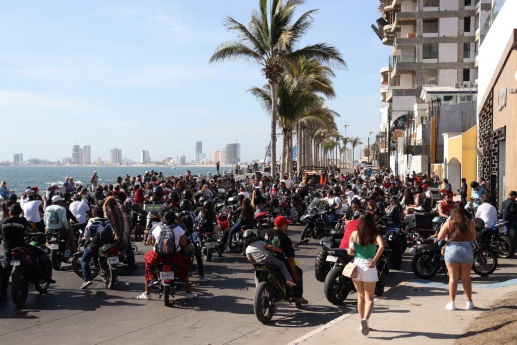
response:
<svg viewBox="0 0 517 345"><path fill-rule="evenodd" d="M490 92L483 108L479 113L478 124L478 147L483 149L483 156L479 157L478 176L484 176L489 179L491 174L491 144L492 144L492 126L494 116L494 91Z"/></svg>

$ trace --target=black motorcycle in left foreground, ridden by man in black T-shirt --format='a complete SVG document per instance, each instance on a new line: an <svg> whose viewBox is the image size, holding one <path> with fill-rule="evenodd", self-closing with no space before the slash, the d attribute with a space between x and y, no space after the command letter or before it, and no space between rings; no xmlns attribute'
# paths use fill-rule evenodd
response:
<svg viewBox="0 0 517 345"><path fill-rule="evenodd" d="M28 233L29 239L33 239L34 243L37 243L37 247L42 247L40 244L44 242L45 234L44 233ZM31 245L34 245L31 243ZM48 248L46 250L48 252ZM29 288L31 285L34 285L36 291L40 294L46 293L50 282L45 280L42 274L41 265L39 263L38 258L34 257L31 251L28 251L24 247L17 247L12 249L11 251L11 295L12 301L18 307L22 307L25 305L27 301ZM47 260L47 266L50 269L50 278L52 277L52 268L51 263L48 257L45 258Z"/></svg>

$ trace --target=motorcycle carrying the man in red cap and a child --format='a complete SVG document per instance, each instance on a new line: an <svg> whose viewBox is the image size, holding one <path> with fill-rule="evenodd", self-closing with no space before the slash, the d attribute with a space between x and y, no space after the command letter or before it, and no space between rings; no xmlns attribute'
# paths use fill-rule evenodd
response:
<svg viewBox="0 0 517 345"><path fill-rule="evenodd" d="M293 249L297 249L300 244L307 242L296 242ZM294 303L296 308L302 307L294 297L294 290L285 283L283 274L277 268L262 264L253 264L257 287L253 297L253 311L258 321L263 324L271 321L275 313L277 303Z"/></svg>

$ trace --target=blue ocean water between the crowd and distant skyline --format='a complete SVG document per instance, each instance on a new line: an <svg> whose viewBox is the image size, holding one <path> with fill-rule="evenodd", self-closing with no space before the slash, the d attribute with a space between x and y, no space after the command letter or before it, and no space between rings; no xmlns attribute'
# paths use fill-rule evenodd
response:
<svg viewBox="0 0 517 345"><path fill-rule="evenodd" d="M219 168L222 174L223 170L230 171L233 167ZM192 175L197 174L215 174L216 167L210 166L177 166L172 169L170 166L112 166L112 167L93 167L93 166L0 166L0 181L7 181L7 188L16 191L21 196L27 186L38 186L40 190L45 190L52 183L63 184L66 176L73 177L75 182L82 182L89 185L90 178L94 171L99 176L99 184L114 184L118 176L136 176L144 175L146 171L163 172L163 175L178 176L185 175L190 170Z"/></svg>

